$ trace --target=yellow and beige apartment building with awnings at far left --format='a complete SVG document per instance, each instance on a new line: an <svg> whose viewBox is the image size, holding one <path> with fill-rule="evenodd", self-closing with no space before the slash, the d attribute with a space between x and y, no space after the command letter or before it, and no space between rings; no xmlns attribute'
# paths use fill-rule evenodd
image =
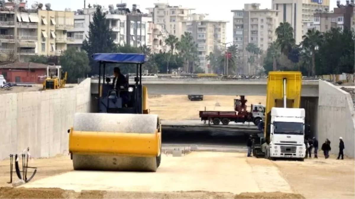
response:
<svg viewBox="0 0 355 199"><path fill-rule="evenodd" d="M60 55L66 50L66 40L62 35L73 28L74 13L25 7L26 3L20 3L16 11L14 4L7 2L0 8L2 58L17 52L21 60L26 60L33 55Z"/></svg>

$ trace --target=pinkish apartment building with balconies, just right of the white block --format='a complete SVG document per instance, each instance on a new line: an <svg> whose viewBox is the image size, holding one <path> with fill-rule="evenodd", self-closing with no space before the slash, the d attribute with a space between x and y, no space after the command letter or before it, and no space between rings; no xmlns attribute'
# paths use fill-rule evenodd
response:
<svg viewBox="0 0 355 199"><path fill-rule="evenodd" d="M168 38L169 33L163 28L162 25L148 22L147 37L149 47L152 53L168 52L170 46L165 44L165 40Z"/></svg>

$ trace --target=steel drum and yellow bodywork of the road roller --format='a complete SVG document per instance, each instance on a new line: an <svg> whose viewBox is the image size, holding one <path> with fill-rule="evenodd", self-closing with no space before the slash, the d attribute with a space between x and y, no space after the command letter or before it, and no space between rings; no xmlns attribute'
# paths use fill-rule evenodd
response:
<svg viewBox="0 0 355 199"><path fill-rule="evenodd" d="M162 131L158 115L148 114L147 98L143 86L144 114L76 113L69 131L74 169L156 171Z"/></svg>

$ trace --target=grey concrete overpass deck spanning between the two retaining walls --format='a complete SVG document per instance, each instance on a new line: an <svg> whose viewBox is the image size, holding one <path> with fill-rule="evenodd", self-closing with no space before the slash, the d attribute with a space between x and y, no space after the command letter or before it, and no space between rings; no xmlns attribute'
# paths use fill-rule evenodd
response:
<svg viewBox="0 0 355 199"><path fill-rule="evenodd" d="M130 80L132 82L133 80ZM318 97L318 80L302 81L302 97ZM246 95L266 96L267 79L142 79L153 95ZM91 80L91 93L98 94L98 80Z"/></svg>

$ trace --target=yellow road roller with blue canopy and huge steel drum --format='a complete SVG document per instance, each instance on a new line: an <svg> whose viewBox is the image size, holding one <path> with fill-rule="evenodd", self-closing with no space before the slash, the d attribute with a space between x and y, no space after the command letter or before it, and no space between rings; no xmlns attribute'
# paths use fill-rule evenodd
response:
<svg viewBox="0 0 355 199"><path fill-rule="evenodd" d="M142 85L145 55L97 53L92 57L99 63L98 110L76 113L68 130L74 170L157 171L161 124L158 115L149 114L147 87ZM111 79L105 78L108 63L134 64L134 84L126 78L127 86L113 89Z"/></svg>

